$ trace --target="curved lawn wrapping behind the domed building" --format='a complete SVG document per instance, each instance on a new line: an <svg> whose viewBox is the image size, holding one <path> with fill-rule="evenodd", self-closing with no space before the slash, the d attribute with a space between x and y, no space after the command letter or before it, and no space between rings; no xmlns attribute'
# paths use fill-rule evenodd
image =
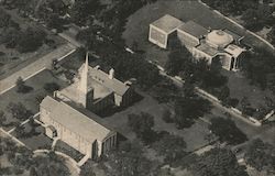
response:
<svg viewBox="0 0 275 176"><path fill-rule="evenodd" d="M167 61L167 51L161 50L147 41L148 25L164 14L170 14L184 22L193 20L205 28L229 29L245 35L244 40L254 46L266 46L255 36L246 33L241 28L229 22L224 18L216 14L201 3L195 0L158 0L155 3L147 4L128 18L125 31L122 37L131 47L133 41L138 42L140 50L145 52L145 57L155 61L161 66Z"/></svg>

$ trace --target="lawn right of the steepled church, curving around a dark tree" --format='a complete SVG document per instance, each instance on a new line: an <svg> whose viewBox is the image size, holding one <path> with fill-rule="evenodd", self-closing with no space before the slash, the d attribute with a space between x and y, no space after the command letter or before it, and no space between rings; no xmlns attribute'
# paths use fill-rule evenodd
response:
<svg viewBox="0 0 275 176"><path fill-rule="evenodd" d="M170 109L167 107L167 105L158 103L155 99L145 94L142 94L142 96L143 99L141 101L134 103L133 106L129 107L123 111L105 118L102 122L106 123L107 127L111 127L120 134L132 141L136 136L128 125L128 114L139 114L143 111L154 116L154 130L167 131L172 134L184 138L184 140L187 142L188 151L193 151L195 148L206 145L207 141L205 140L205 136L209 133L209 131L205 122L198 121L189 129L177 130L175 124L166 123L162 120L163 112L167 109Z"/></svg>

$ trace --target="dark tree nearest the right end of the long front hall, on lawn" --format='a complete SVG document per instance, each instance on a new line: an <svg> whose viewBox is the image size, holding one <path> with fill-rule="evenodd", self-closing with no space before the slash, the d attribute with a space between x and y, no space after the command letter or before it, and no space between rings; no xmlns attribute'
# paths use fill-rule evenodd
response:
<svg viewBox="0 0 275 176"><path fill-rule="evenodd" d="M128 125L135 132L136 136L142 139L145 143L152 142L154 140L154 117L141 112L141 114L129 114Z"/></svg>

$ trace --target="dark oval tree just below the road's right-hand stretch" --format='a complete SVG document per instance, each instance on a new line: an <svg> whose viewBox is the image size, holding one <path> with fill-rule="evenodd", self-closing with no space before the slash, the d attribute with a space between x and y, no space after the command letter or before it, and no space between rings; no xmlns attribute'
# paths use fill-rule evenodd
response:
<svg viewBox="0 0 275 176"><path fill-rule="evenodd" d="M240 144L248 140L246 135L235 125L231 119L212 118L209 130L217 136L221 142L228 142L230 144Z"/></svg>

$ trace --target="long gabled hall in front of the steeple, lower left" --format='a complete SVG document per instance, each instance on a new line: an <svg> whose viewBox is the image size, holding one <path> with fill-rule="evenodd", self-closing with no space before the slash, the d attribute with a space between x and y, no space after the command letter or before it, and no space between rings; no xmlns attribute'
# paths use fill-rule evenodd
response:
<svg viewBox="0 0 275 176"><path fill-rule="evenodd" d="M100 118L78 111L62 100L46 97L40 106L46 135L58 138L89 158L97 158L117 144L117 132L100 124Z"/></svg>

